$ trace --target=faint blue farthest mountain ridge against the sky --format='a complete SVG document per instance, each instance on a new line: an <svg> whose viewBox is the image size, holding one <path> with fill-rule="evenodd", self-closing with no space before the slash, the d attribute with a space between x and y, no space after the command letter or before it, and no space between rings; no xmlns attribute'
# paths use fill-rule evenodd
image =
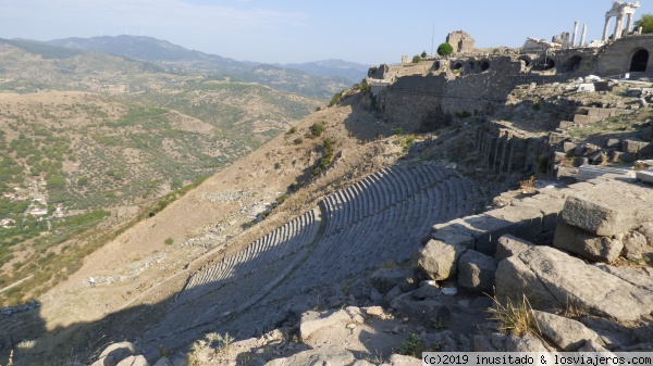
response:
<svg viewBox="0 0 653 366"><path fill-rule="evenodd" d="M242 74L259 66L261 62L236 61L215 54L188 50L165 40L139 36L93 37L54 39L46 43L69 49L94 50L121 55L138 61L147 61L161 66L212 72L219 74ZM313 75L342 77L350 83L365 78L369 65L342 60L325 60L307 63L274 64L282 68L294 68Z"/></svg>

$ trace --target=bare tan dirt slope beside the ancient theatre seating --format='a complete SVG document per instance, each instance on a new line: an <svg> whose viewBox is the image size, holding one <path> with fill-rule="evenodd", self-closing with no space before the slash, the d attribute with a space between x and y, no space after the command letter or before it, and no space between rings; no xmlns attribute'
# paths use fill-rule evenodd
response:
<svg viewBox="0 0 653 366"><path fill-rule="evenodd" d="M349 101L357 105L356 99ZM324 125L319 138L310 137L313 124ZM118 328L103 324L134 312L145 315L137 318L147 324L147 315L158 315L158 307L149 305L160 304L178 291L193 269L215 255L211 253L205 260L202 254L207 251L233 252L315 206L329 192L393 163L402 154L402 147L393 142L396 138L377 140L390 135L389 126L348 104L311 114L297 124L295 132L279 136L93 253L79 272L39 299L42 305L38 316L35 313L13 317L16 323L9 327L15 332L13 337L36 339L29 351L41 355L61 350L63 344L72 346L75 341L99 339L101 335L137 338L141 329L138 324ZM310 178L322 156L323 138L335 141L332 167L291 194L264 222L241 234L241 227L251 220L257 207L274 201L291 184ZM237 235L235 240L225 242ZM175 244L167 245L168 238ZM89 277L98 279L99 286L91 288ZM121 312L120 316L108 317L116 312ZM20 325L24 321L40 323L49 332L23 333Z"/></svg>

